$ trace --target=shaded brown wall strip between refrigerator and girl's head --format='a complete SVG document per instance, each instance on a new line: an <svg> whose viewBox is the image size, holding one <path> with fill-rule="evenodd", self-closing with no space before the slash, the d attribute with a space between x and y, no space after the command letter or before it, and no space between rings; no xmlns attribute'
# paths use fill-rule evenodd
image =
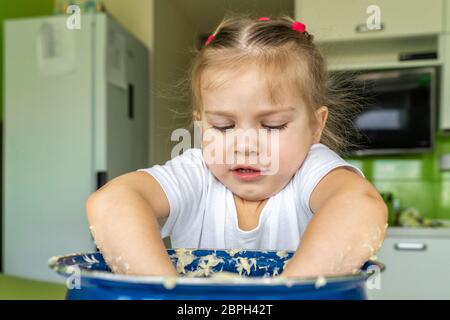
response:
<svg viewBox="0 0 450 320"><path fill-rule="evenodd" d="M177 84L186 76L185 72L196 41L195 21L191 21L174 1L155 1L155 61L156 82L154 136L158 144L152 155L153 163L164 163L170 159L172 131L186 127L189 119L187 100Z"/></svg>

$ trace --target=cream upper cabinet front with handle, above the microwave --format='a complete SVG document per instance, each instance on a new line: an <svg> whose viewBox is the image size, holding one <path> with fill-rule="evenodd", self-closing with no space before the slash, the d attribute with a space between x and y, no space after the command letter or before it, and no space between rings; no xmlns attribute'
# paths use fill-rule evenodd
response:
<svg viewBox="0 0 450 320"><path fill-rule="evenodd" d="M380 30L369 30L367 8L380 9ZM296 18L318 41L343 41L438 34L444 0L296 0Z"/></svg>

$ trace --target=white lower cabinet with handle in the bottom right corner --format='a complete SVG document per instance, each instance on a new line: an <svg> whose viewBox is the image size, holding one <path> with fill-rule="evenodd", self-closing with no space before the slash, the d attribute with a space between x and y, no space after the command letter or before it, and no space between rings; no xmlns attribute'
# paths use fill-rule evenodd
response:
<svg viewBox="0 0 450 320"><path fill-rule="evenodd" d="M368 290L369 298L450 299L450 231L446 236L404 231L410 234L388 235L378 253L386 270L380 289Z"/></svg>

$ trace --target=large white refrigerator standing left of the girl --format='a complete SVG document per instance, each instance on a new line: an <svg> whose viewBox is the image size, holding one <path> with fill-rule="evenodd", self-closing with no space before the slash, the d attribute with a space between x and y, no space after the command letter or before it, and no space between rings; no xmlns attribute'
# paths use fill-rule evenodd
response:
<svg viewBox="0 0 450 320"><path fill-rule="evenodd" d="M3 272L63 282L51 256L95 251L85 202L148 165L147 48L104 13L8 20Z"/></svg>

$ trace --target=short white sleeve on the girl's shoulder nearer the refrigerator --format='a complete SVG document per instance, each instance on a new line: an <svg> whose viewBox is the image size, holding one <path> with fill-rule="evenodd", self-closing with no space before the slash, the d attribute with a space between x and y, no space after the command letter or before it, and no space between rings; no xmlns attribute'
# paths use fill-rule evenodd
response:
<svg viewBox="0 0 450 320"><path fill-rule="evenodd" d="M170 236L176 225L184 224L198 212L205 190L206 170L200 149L188 149L164 165L137 170L151 174L168 199L169 216L162 223L162 238Z"/></svg>

